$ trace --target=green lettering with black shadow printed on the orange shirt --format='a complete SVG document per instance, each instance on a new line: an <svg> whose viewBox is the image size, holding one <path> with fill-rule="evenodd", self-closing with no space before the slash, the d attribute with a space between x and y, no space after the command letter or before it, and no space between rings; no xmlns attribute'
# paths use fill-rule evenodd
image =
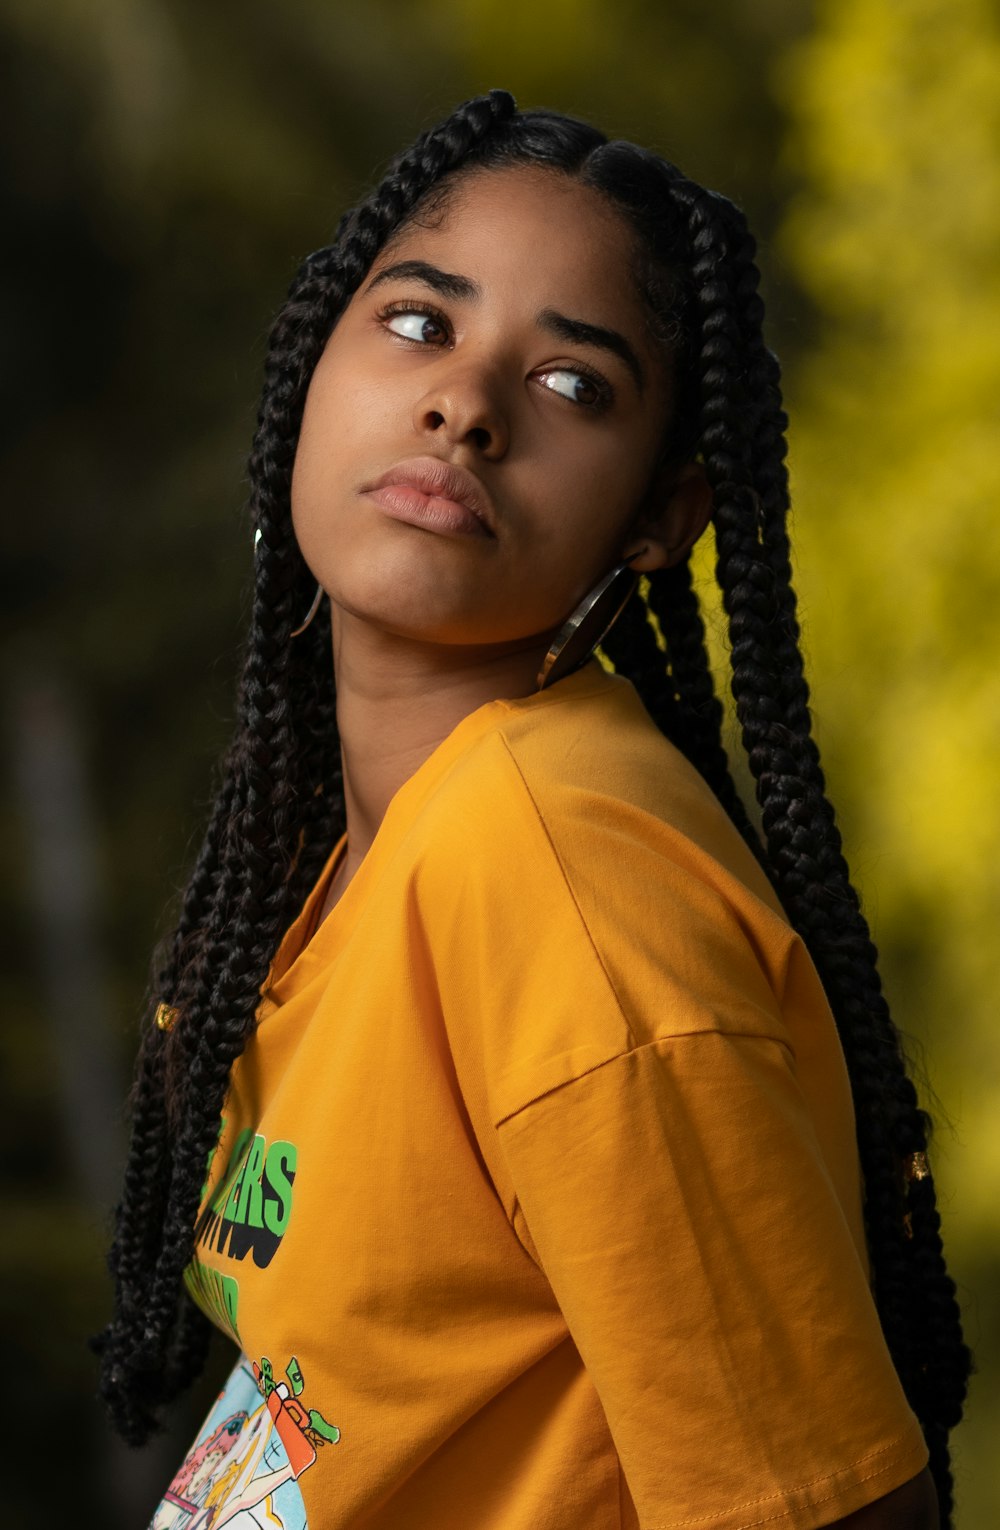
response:
<svg viewBox="0 0 1000 1530"><path fill-rule="evenodd" d="M225 1129L225 1118L222 1121ZM211 1248L237 1262L249 1253L258 1270L274 1259L292 1215L298 1149L245 1128L229 1163L194 1229L196 1248ZM240 1282L203 1264L197 1255L183 1273L191 1299L217 1327L240 1340Z"/></svg>

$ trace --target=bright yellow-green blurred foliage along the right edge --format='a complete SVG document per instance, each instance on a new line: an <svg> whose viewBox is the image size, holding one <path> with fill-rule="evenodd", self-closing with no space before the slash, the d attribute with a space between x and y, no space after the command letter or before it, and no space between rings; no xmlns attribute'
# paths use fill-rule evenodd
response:
<svg viewBox="0 0 1000 1530"><path fill-rule="evenodd" d="M901 1024L931 1036L945 1232L1000 1421L994 1268L1000 809L1000 29L982 0L841 0L789 52L781 246L823 323L792 483L815 710ZM994 1059L992 1065L989 1059ZM980 1337L982 1323L982 1337ZM962 1524L1000 1512L962 1470Z"/></svg>

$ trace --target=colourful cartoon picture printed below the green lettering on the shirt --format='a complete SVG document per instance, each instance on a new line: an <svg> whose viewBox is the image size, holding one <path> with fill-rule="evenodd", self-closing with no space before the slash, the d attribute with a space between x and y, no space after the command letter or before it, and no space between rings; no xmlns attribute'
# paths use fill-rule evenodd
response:
<svg viewBox="0 0 1000 1530"><path fill-rule="evenodd" d="M309 1530L298 1478L341 1432L306 1408L292 1356L275 1382L243 1356L153 1515L150 1530Z"/></svg>

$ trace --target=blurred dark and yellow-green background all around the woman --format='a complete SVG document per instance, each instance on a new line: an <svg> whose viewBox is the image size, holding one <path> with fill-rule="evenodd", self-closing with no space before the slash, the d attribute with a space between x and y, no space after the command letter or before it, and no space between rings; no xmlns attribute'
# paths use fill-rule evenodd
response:
<svg viewBox="0 0 1000 1530"><path fill-rule="evenodd" d="M0 44L6 1522L144 1525L228 1362L131 1455L86 1336L148 955L232 718L265 338L390 155L491 86L653 145L758 236L817 733L979 1359L959 1527L1000 1522L997 6L0 0Z"/></svg>

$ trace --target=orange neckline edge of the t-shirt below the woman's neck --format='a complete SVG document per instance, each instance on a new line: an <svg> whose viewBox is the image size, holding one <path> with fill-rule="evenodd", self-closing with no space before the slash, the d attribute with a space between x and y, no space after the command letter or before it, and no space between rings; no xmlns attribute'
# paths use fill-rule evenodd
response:
<svg viewBox="0 0 1000 1530"><path fill-rule="evenodd" d="M401 819L405 822L404 809L420 793L430 791L451 762L476 742L477 737L495 727L505 715L538 711L576 698L607 692L609 685L630 684L625 676L610 673L598 658L592 656L578 670L573 670L572 675L544 690L532 692L528 696L485 701L480 707L466 713L393 794L378 832L355 875L344 887L344 892L326 920L317 924L317 915L326 898L330 880L341 855L346 852L347 834L341 834L336 840L298 916L287 927L275 952L271 973L263 988L258 1017L265 1019L272 1008L284 1004L292 991L301 988L312 976L310 968L323 964L324 953L327 953L330 944L349 932L364 898L365 884L372 880L375 871L390 851L398 822Z"/></svg>

